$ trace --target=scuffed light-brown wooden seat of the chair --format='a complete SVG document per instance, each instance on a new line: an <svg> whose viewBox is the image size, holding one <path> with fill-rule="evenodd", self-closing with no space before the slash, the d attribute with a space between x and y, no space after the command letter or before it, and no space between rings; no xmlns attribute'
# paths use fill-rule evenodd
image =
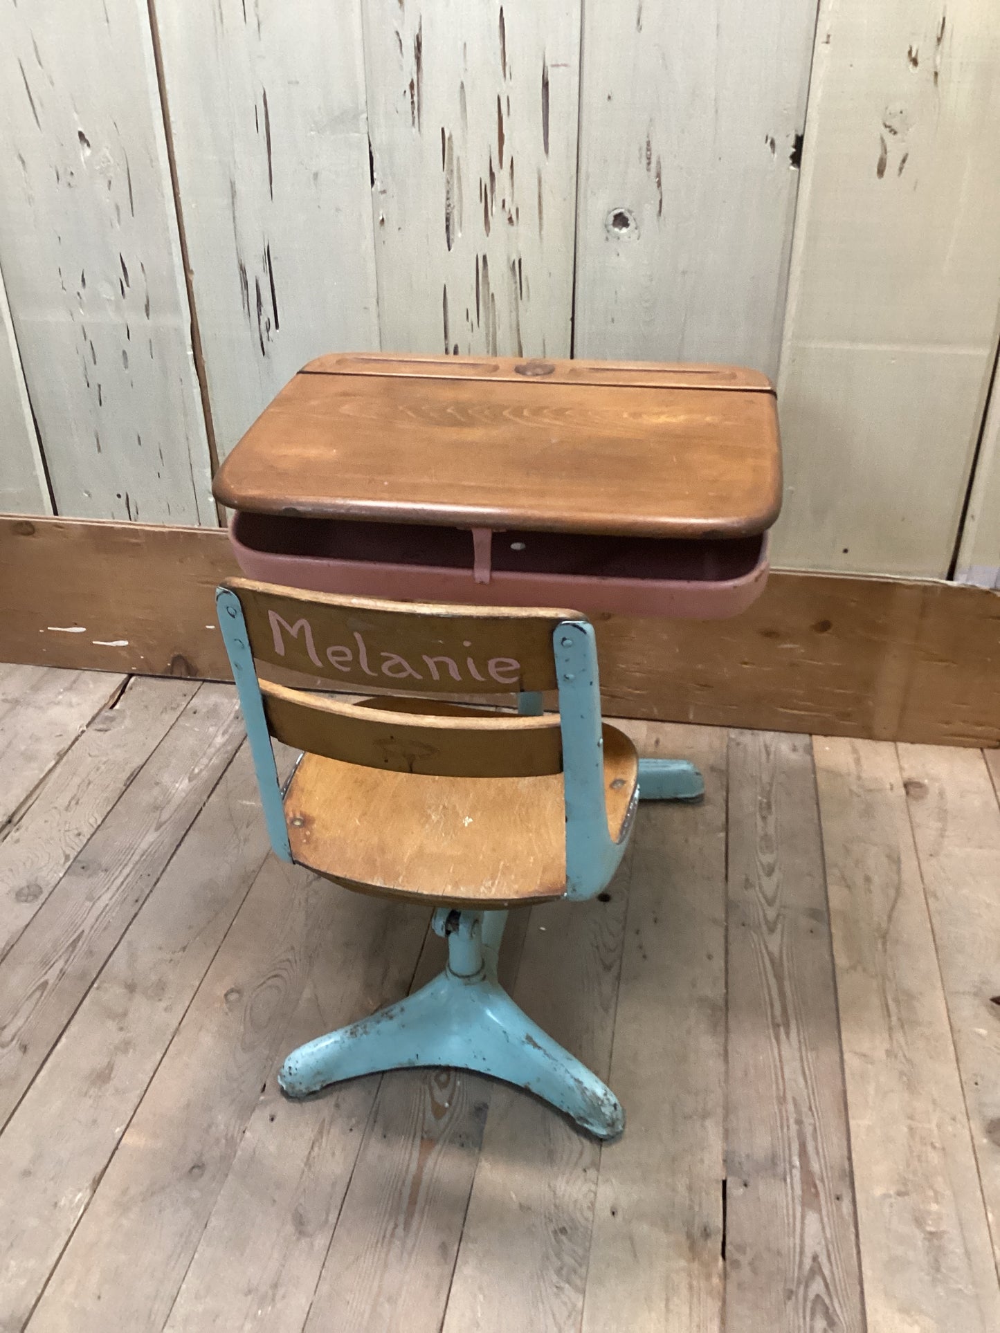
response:
<svg viewBox="0 0 1000 1333"><path fill-rule="evenodd" d="M608 832L635 809L639 760L604 732ZM305 754L285 796L292 856L361 892L500 908L565 893L563 774L437 777Z"/></svg>

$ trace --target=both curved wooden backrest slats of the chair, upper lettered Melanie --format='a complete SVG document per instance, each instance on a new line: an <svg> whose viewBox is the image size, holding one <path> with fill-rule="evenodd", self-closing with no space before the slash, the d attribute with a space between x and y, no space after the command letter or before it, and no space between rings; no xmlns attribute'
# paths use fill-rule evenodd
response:
<svg viewBox="0 0 1000 1333"><path fill-rule="evenodd" d="M240 603L256 661L421 694L552 689L552 635L581 619L575 612L337 597L248 579L223 588L223 596ZM443 777L532 777L563 769L555 714L520 717L392 696L359 705L251 680L267 730L312 754Z"/></svg>

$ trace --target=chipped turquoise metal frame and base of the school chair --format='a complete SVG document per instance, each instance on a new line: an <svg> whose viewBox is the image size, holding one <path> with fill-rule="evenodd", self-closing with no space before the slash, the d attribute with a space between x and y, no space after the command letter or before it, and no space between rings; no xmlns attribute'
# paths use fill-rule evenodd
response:
<svg viewBox="0 0 1000 1333"><path fill-rule="evenodd" d="M240 696L271 845L292 860L275 753L239 597L216 593L219 624ZM565 897L595 897L611 881L632 830L629 812L620 842L608 832L600 689L593 627L561 621L553 633L563 733L565 792ZM523 693L519 712L541 712L541 694ZM640 760L641 800L695 800L701 774L685 760ZM448 941L448 965L433 981L369 1018L327 1033L293 1050L279 1073L289 1097L307 1097L360 1074L417 1065L453 1066L525 1088L571 1116L599 1138L625 1124L617 1097L575 1056L555 1042L511 1000L496 978L505 910L439 908L433 929Z"/></svg>

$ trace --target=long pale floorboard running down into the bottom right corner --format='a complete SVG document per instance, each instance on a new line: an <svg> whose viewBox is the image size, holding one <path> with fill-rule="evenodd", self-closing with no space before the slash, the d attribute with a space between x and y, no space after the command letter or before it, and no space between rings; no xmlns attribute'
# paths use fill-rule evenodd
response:
<svg viewBox="0 0 1000 1333"><path fill-rule="evenodd" d="M816 740L868 1326L1000 1326L1000 1293L892 746Z"/></svg>

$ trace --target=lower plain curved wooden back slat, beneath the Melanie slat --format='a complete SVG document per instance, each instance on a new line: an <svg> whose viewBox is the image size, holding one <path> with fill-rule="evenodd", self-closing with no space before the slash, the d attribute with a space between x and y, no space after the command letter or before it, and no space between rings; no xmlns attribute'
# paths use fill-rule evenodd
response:
<svg viewBox="0 0 1000 1333"><path fill-rule="evenodd" d="M563 766L553 714L484 717L455 708L449 716L421 716L392 710L392 698L377 701L385 708L359 706L269 681L260 692L272 736L348 764L444 777L535 777Z"/></svg>

